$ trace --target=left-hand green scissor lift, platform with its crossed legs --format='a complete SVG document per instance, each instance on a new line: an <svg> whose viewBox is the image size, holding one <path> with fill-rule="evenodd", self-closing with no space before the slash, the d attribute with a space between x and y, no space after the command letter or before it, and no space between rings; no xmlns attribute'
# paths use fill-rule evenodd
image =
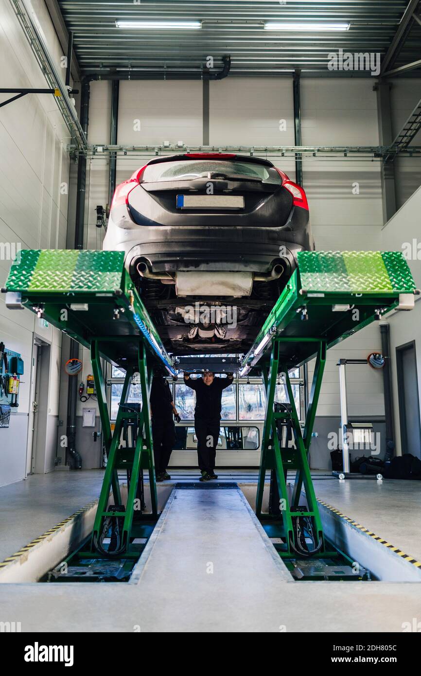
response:
<svg viewBox="0 0 421 676"><path fill-rule="evenodd" d="M89 560L95 553L99 558L109 558L101 545L104 524L115 526L118 520L119 542L113 556L136 560L139 548L132 545L134 537L147 538L159 516L149 410L153 368L164 364L169 374L176 375L176 371L124 269L124 253L22 251L20 260L11 266L6 287L9 308L29 308L91 352L107 466L92 537L78 556ZM114 431L107 408L101 358L126 370ZM140 374L141 410L126 404L135 372ZM128 438L134 439L134 443L122 445L122 431L129 427ZM124 470L130 477L126 508L122 505L118 470ZM139 509L140 470L149 473L149 515L141 514Z"/></svg>

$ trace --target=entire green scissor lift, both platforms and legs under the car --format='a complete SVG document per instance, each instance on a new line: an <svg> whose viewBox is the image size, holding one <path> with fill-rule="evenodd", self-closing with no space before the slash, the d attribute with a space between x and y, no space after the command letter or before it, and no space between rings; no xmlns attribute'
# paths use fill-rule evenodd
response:
<svg viewBox="0 0 421 676"><path fill-rule="evenodd" d="M124 268L120 251L27 250L11 266L6 287L9 308L28 308L55 327L88 347L97 389L107 467L93 535L81 558L107 556L101 547L101 533L107 523L120 520L120 556L139 557L132 547L134 536L146 534L157 518L157 492L153 469L153 446L149 391L153 367L164 364L176 375L174 362L143 306L141 298ZM244 357L241 375L261 373L266 385L266 416L262 437L262 456L257 484L256 514L270 532L270 519L262 514L266 470L272 471L280 500L280 519L276 534L284 558L303 554L302 535L297 525L306 519L312 529L312 556L326 556L322 523L309 471L308 454L326 349L353 335L392 308L410 309L414 304L414 281L401 253L386 251L302 252L298 266L259 331L253 347ZM112 432L100 358L126 370L120 408ZM316 366L304 429L295 407L289 371L316 358ZM134 372L140 373L143 406L127 410L126 404ZM276 381L279 375L287 389L289 406L274 412ZM135 419L136 443L120 448L125 423ZM278 426L288 423L295 437L295 448L282 448ZM129 470L131 477L126 507L122 507L118 470ZM133 523L139 470L149 472L152 520L142 530ZM293 489L287 485L287 470L295 471ZM109 508L112 491L117 511ZM300 505L302 491L305 506ZM119 511L123 509L123 511ZM140 529L140 530L139 530ZM273 535L273 533L272 533ZM99 551L99 553L98 553ZM312 552L309 552L311 554Z"/></svg>

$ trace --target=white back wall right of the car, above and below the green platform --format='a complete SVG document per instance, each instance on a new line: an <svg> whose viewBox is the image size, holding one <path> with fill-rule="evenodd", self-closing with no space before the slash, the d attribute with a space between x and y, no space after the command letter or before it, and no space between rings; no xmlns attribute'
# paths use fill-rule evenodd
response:
<svg viewBox="0 0 421 676"><path fill-rule="evenodd" d="M372 85L368 79L302 78L303 145L378 144L376 93ZM355 183L357 194L353 194ZM316 249L379 248L380 164L362 160L304 160L303 185ZM380 349L380 333L377 324L372 324L328 351L318 416L340 415L339 358L365 359L375 349ZM382 378L371 371L368 366L347 369L349 415L384 414ZM310 379L313 372L311 362Z"/></svg>

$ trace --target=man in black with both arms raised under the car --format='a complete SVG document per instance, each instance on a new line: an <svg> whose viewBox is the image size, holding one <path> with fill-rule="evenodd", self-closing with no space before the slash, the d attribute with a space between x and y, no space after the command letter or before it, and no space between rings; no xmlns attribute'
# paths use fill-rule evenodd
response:
<svg viewBox="0 0 421 676"><path fill-rule="evenodd" d="M222 408L222 390L232 385L234 376L215 378L205 371L201 378L191 379L184 373L184 384L196 393L195 433L197 436L197 460L201 477L199 481L218 479L215 474L216 446L218 444Z"/></svg>

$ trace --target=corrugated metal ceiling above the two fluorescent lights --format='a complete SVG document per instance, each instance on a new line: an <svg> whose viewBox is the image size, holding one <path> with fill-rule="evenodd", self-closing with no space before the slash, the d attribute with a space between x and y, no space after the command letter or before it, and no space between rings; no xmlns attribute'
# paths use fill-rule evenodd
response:
<svg viewBox="0 0 421 676"><path fill-rule="evenodd" d="M58 0L82 73L127 76L199 73L209 55L216 70L231 56L232 75L276 75L297 68L330 74L328 53L387 53L407 0ZM201 21L199 30L117 28L116 20ZM346 32L278 32L266 21L349 22ZM403 48L389 64L397 68L421 57L421 25L408 24ZM338 74L338 73L335 73ZM345 71L343 75L370 72ZM412 69L408 75L420 74Z"/></svg>

